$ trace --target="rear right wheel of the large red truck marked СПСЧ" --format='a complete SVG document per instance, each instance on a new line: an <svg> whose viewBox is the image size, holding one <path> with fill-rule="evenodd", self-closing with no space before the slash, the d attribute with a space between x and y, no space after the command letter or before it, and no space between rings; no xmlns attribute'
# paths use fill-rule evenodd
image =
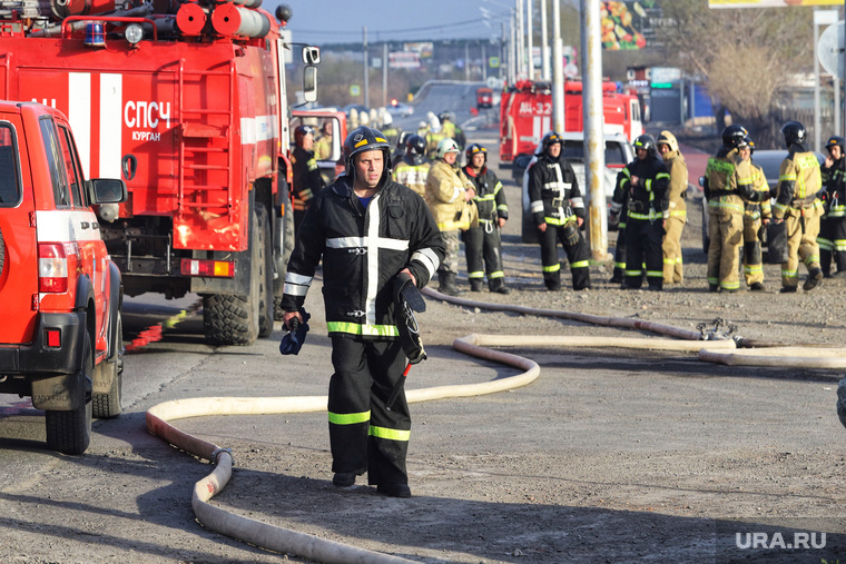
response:
<svg viewBox="0 0 846 564"><path fill-rule="evenodd" d="M252 214L249 229L258 232L256 214ZM203 327L213 345L249 346L258 337L259 263L264 260L258 247L255 241L249 246L249 294L209 294L203 298Z"/></svg>

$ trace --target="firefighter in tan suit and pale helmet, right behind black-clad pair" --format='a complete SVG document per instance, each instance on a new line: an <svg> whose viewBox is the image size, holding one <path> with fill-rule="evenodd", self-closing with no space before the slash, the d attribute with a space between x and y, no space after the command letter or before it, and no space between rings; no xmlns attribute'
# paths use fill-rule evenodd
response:
<svg viewBox="0 0 846 564"><path fill-rule="evenodd" d="M685 192L688 185L687 162L679 151L679 142L670 131L658 136L658 152L663 157L665 166L670 172L670 216L663 224L663 284L681 284L685 273L681 266L681 231L687 222L687 204Z"/></svg>

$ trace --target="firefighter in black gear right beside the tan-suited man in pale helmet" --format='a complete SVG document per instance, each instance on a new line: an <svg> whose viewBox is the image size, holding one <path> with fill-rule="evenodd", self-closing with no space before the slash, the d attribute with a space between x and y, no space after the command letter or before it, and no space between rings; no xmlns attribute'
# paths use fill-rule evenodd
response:
<svg viewBox="0 0 846 564"><path fill-rule="evenodd" d="M468 147L464 174L475 185L479 227L464 231L464 251L468 259L470 291L481 291L485 273L488 289L511 294L502 271L500 229L509 218L505 191L496 175L488 168L488 149L479 144Z"/></svg>

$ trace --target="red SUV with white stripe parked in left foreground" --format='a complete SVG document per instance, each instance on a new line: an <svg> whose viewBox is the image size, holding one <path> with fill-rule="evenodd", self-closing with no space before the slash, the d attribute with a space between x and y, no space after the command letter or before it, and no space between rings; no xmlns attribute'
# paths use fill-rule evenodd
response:
<svg viewBox="0 0 846 564"><path fill-rule="evenodd" d="M0 393L46 410L47 444L88 448L91 417L120 414L120 273L92 205L122 180L86 180L67 118L0 101Z"/></svg>

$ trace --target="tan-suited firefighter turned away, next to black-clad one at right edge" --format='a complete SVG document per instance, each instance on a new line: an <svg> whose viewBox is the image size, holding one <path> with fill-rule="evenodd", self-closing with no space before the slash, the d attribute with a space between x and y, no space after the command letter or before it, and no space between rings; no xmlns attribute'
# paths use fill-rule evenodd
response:
<svg viewBox="0 0 846 564"><path fill-rule="evenodd" d="M803 289L810 291L823 280L817 245L819 218L823 216L818 192L823 180L817 157L805 146L805 127L798 121L788 121L781 127L781 133L788 152L778 172L773 209L773 220L784 221L787 232L787 263L781 265L781 291L797 290L800 259L808 269Z"/></svg>

